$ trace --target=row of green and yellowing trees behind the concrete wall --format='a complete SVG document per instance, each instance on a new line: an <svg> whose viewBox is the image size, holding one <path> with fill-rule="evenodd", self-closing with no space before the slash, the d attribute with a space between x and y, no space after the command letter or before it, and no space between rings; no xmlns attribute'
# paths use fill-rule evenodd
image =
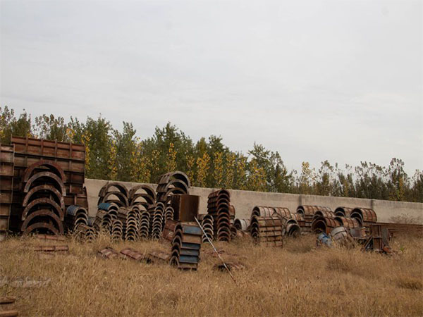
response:
<svg viewBox="0 0 423 317"><path fill-rule="evenodd" d="M315 170L302 162L300 171L288 171L280 154L261 144L245 155L215 135L193 142L171 123L140 139L132 123L123 122L118 131L101 115L85 122L72 117L65 122L53 114L32 120L25 109L16 117L8 106L0 107L0 128L4 144L10 144L11 135L84 144L87 178L156 182L159 175L182 170L197 187L423 202L423 172L409 177L396 158L389 166L363 161L345 169L324 161Z"/></svg>

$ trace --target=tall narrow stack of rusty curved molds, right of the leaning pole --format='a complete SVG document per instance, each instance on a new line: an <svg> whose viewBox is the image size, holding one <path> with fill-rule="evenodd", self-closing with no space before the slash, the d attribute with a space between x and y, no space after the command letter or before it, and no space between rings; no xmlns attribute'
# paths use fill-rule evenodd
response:
<svg viewBox="0 0 423 317"><path fill-rule="evenodd" d="M213 217L214 238L218 241L231 240L231 195L225 189L209 194L207 214Z"/></svg>

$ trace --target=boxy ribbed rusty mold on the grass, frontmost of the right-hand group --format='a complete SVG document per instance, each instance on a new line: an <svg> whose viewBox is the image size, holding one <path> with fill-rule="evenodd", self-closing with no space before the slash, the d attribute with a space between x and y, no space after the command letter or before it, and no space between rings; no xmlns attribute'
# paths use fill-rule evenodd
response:
<svg viewBox="0 0 423 317"><path fill-rule="evenodd" d="M257 244L283 247L283 220L278 216L253 216L250 235Z"/></svg>

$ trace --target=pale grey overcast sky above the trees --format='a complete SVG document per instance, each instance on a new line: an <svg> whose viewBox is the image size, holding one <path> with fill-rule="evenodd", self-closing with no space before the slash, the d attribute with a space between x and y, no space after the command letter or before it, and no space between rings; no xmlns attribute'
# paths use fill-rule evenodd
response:
<svg viewBox="0 0 423 317"><path fill-rule="evenodd" d="M423 1L0 0L1 106L423 168Z"/></svg>

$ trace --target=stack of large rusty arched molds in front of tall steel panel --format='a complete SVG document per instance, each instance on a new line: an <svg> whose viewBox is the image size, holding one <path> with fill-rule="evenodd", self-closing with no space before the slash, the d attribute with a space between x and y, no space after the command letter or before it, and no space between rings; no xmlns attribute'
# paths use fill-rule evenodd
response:
<svg viewBox="0 0 423 317"><path fill-rule="evenodd" d="M22 177L23 212L20 230L63 235L66 188L63 169L54 162L42 161L25 169Z"/></svg>

